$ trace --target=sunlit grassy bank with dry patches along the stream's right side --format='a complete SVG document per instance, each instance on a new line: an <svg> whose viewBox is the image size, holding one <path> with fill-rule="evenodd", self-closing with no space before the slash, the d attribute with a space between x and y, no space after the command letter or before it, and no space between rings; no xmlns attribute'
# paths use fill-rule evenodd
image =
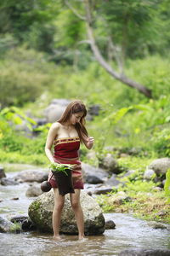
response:
<svg viewBox="0 0 170 256"><path fill-rule="evenodd" d="M134 217L170 224L170 204L164 187L153 176L144 179L144 171L153 159L125 157L119 165L133 170L128 177L120 174L123 185L113 188L107 195L97 196L97 201L104 212L128 212ZM122 195L121 193L125 193Z"/></svg>

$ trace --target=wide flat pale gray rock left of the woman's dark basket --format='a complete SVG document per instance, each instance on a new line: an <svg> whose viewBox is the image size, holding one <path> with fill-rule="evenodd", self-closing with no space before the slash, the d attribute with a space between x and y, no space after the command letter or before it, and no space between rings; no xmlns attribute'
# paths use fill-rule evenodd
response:
<svg viewBox="0 0 170 256"><path fill-rule="evenodd" d="M42 183L42 181L48 179L48 172L42 172L38 170L25 170L14 176L14 180L24 183L24 182L37 182Z"/></svg>

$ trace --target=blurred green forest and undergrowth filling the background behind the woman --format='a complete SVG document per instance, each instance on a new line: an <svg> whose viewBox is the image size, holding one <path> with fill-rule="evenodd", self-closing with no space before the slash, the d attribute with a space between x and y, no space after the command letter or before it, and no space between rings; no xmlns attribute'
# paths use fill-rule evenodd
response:
<svg viewBox="0 0 170 256"><path fill-rule="evenodd" d="M82 160L99 166L114 155L122 172L135 170L124 189L135 202L122 211L170 222L156 215L167 211L169 190L150 200L156 183L143 179L152 160L170 157L170 2L2 0L0 35L1 163L47 166L50 124L34 119L54 98L81 99L100 109L87 123L95 157L82 147ZM38 136L14 129L23 120ZM105 195L99 201L114 211Z"/></svg>

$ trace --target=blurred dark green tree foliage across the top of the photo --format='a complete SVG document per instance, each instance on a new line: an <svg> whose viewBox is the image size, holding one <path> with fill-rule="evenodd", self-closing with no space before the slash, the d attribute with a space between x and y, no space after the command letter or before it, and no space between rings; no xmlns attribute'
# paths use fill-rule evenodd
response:
<svg viewBox="0 0 170 256"><path fill-rule="evenodd" d="M89 3L94 35L105 58L113 55L108 38L116 44L116 51L122 59L126 55L136 58L156 51L167 55L170 39L167 11L170 6L167 0ZM72 0L71 5L85 16L83 2ZM93 59L89 57L89 47L80 44L80 41L87 39L85 21L78 18L65 1L2 0L0 24L1 38L4 38L3 52L15 45L25 44L28 48L45 51L49 58L64 64L82 67L82 58L88 63Z"/></svg>

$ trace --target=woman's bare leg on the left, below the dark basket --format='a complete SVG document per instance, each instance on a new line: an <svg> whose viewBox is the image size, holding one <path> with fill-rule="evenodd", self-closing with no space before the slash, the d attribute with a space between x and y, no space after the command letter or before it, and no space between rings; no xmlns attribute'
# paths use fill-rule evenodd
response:
<svg viewBox="0 0 170 256"><path fill-rule="evenodd" d="M54 239L60 240L59 224L61 219L61 212L65 205L65 196L59 195L59 189L54 189L54 211L53 211L53 230Z"/></svg>

